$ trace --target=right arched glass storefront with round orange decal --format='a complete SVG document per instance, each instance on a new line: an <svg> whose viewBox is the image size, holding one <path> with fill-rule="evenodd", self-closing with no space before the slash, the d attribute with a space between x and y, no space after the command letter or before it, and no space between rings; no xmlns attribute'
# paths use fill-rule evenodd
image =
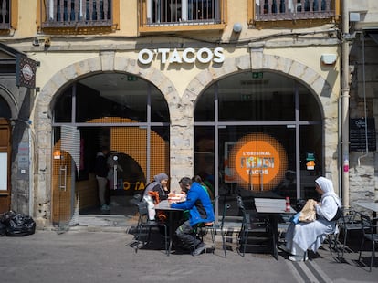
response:
<svg viewBox="0 0 378 283"><path fill-rule="evenodd" d="M236 194L289 196L293 203L317 197L322 142L319 101L284 75L238 73L219 79L196 100L194 173L209 183L217 178L220 202L234 202Z"/></svg>

